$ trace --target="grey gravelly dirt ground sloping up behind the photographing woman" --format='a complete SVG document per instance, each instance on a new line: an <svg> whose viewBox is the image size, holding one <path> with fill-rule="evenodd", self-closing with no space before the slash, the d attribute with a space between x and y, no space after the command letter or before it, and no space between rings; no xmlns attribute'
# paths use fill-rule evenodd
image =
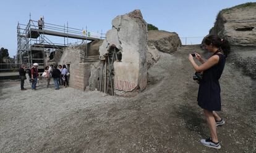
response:
<svg viewBox="0 0 256 153"><path fill-rule="evenodd" d="M1 82L0 152L256 152L256 81L232 62L220 79L221 149L200 144L210 133L188 60L194 50L206 55L198 45L160 53L133 98Z"/></svg>

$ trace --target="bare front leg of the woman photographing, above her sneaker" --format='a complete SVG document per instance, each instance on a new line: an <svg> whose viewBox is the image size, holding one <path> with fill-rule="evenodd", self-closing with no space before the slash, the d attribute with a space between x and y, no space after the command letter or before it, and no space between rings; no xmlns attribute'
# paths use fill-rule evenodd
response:
<svg viewBox="0 0 256 153"><path fill-rule="evenodd" d="M218 143L216 122L215 122L215 117L213 116L213 111L207 111L207 110L203 109L203 112L207 119L208 127L210 128L211 139L214 143Z"/></svg>

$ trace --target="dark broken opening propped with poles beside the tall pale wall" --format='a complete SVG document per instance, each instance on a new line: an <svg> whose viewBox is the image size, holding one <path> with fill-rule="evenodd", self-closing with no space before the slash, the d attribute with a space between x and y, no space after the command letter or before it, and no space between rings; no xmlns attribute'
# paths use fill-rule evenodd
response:
<svg viewBox="0 0 256 153"><path fill-rule="evenodd" d="M100 70L100 91L114 95L114 62L122 61L121 50L116 45L110 45Z"/></svg>

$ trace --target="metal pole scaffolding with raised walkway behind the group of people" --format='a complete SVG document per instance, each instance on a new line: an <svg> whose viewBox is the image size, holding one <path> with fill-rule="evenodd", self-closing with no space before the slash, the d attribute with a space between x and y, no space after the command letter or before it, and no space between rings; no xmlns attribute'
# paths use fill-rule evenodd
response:
<svg viewBox="0 0 256 153"><path fill-rule="evenodd" d="M48 36L64 37L64 42L54 43ZM27 25L20 23L17 25L16 62L28 67L31 67L33 63L38 63L40 65L38 69L42 69L45 67L45 57L51 52L77 44L70 43L69 39L80 39L82 43L87 44L101 37L100 34L92 35L87 29L70 28L68 23L64 26L44 23L40 28L37 21L30 19Z"/></svg>

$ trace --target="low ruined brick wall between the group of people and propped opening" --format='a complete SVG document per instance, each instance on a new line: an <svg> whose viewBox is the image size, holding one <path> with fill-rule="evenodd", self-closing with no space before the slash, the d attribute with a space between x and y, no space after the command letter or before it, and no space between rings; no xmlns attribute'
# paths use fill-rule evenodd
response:
<svg viewBox="0 0 256 153"><path fill-rule="evenodd" d="M69 86L78 88L80 90L85 90L89 86L89 80L91 76L91 71L93 71L93 65L100 62L99 59L99 47L102 44L102 40L96 40L88 44L88 47L85 44L77 45L73 47L67 47L64 49L61 60L59 61L60 65L69 66ZM85 52L88 49L88 57L86 57ZM93 82L93 85L97 86L97 77ZM91 85L92 86L92 85ZM92 87L92 90L95 90L96 87Z"/></svg>

